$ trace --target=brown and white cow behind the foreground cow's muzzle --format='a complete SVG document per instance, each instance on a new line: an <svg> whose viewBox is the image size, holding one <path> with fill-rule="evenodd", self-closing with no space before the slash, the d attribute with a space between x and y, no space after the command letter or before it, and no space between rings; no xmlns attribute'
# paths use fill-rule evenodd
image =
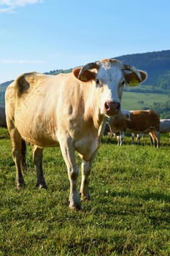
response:
<svg viewBox="0 0 170 256"><path fill-rule="evenodd" d="M153 145L156 148L160 146L160 118L154 110L122 110L118 115L109 117L108 121L112 132L147 133L152 138ZM121 141L120 145L122 143Z"/></svg>

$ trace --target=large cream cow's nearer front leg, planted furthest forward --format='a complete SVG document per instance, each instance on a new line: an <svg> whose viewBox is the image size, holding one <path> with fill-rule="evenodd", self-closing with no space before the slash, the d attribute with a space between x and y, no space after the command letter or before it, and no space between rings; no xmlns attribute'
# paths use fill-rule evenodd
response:
<svg viewBox="0 0 170 256"><path fill-rule="evenodd" d="M72 145L72 139L68 138L65 143L64 140L61 140L60 146L63 159L66 162L70 181L69 208L72 210L80 210L80 197L77 192L77 177L79 175L79 169L75 161L75 150Z"/></svg>

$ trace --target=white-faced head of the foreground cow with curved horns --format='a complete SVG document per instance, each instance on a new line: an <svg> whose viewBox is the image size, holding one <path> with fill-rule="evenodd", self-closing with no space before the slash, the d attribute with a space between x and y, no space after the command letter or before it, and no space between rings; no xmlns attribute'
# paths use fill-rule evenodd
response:
<svg viewBox="0 0 170 256"><path fill-rule="evenodd" d="M90 72L89 69L96 69L97 72ZM141 83L147 78L147 73L115 59L104 59L86 64L80 69L78 78L83 81L96 81L101 114L115 116L121 108L120 100L124 86L131 85L131 82L133 85L134 82Z"/></svg>

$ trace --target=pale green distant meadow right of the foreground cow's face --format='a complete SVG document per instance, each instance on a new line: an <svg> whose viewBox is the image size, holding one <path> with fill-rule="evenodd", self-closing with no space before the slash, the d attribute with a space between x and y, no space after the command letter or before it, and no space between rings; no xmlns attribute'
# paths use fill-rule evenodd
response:
<svg viewBox="0 0 170 256"><path fill-rule="evenodd" d="M148 94L123 91L122 105L124 110L142 110L152 108L154 102L166 102L169 94Z"/></svg>

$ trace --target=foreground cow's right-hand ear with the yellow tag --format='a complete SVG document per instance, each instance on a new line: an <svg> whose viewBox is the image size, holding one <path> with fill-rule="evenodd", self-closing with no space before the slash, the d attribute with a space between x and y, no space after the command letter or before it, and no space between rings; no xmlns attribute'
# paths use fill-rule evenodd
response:
<svg viewBox="0 0 170 256"><path fill-rule="evenodd" d="M138 76L134 72L125 73L125 80L129 86L139 86L139 83L144 82L147 79L147 73L139 70L142 80L139 80Z"/></svg>

